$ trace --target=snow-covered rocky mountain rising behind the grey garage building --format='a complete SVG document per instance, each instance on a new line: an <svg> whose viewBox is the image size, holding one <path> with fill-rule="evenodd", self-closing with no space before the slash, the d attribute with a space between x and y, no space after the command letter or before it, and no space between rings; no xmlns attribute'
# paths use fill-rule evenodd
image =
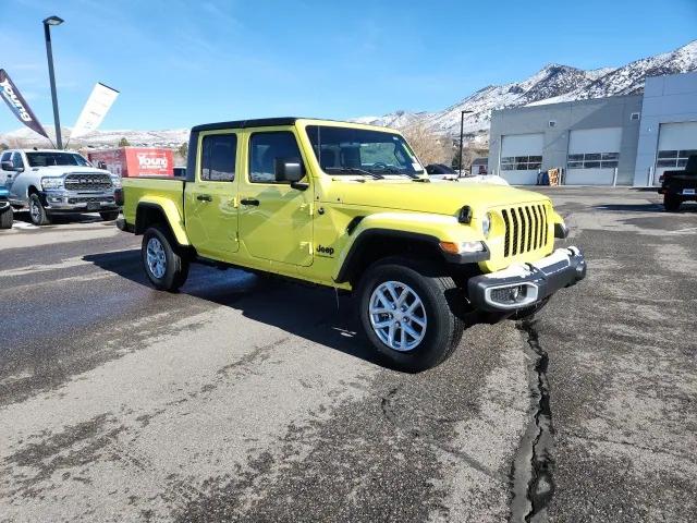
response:
<svg viewBox="0 0 697 523"><path fill-rule="evenodd" d="M461 111L472 111L465 113L464 124L464 131L472 139L472 135L482 137L488 133L493 109L635 95L644 90L648 76L688 71L697 71L697 40L672 52L644 58L622 68L584 71L551 63L522 82L484 87L442 111L396 111L356 121L398 129L421 122L433 132L456 136L460 134Z"/></svg>

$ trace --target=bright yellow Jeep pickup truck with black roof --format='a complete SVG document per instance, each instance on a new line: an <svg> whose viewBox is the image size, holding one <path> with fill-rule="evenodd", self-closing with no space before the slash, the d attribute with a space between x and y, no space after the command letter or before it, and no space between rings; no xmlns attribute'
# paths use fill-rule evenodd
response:
<svg viewBox="0 0 697 523"><path fill-rule="evenodd" d="M464 327L534 314L586 273L548 197L430 183L399 132L277 118L192 129L186 177L124 179L119 228L143 234L152 284L198 262L356 294L389 365L443 362Z"/></svg>

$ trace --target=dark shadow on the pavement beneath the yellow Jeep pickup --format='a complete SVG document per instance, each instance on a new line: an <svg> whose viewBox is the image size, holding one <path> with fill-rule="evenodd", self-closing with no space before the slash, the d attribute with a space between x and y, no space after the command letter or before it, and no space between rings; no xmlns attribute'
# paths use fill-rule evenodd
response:
<svg viewBox="0 0 697 523"><path fill-rule="evenodd" d="M139 250L87 255L83 260L152 289L143 271ZM219 270L193 265L179 293L155 289L152 292L162 294L163 307L178 300L184 303L175 308L185 312L192 299L205 300L241 311L246 318L314 343L384 365L360 331L353 299L337 296L332 290L240 269Z"/></svg>

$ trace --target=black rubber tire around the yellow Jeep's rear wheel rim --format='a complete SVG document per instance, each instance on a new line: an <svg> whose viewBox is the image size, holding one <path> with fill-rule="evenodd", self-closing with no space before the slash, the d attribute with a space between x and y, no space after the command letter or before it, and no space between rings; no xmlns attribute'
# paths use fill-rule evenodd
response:
<svg viewBox="0 0 697 523"><path fill-rule="evenodd" d="M161 273L154 272L148 264L148 245L154 240L151 246L157 247L157 242L162 250L162 258L164 267ZM161 226L152 226L143 234L143 245L140 248L140 258L143 268L152 285L160 291L176 292L184 284L188 277L188 260L182 257L174 248L175 243L170 238L170 233ZM152 254L156 254L156 248Z"/></svg>

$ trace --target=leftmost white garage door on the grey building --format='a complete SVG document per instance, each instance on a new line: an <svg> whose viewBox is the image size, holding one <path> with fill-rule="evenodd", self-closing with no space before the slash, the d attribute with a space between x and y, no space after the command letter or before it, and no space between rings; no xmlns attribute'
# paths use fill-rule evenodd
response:
<svg viewBox="0 0 697 523"><path fill-rule="evenodd" d="M499 172L514 185L535 185L542 167L543 134L511 134L501 139Z"/></svg>

